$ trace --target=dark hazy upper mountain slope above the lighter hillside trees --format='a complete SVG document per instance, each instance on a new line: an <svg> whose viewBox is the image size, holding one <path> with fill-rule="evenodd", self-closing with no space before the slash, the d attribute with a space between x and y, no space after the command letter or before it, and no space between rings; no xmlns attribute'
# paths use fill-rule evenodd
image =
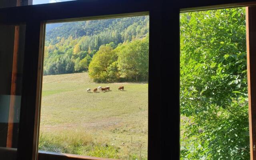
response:
<svg viewBox="0 0 256 160"><path fill-rule="evenodd" d="M61 26L55 27L46 31L46 41L51 41L53 44L58 42L58 37L78 38L81 36L92 36L100 34L101 32L116 31L120 34L124 32L129 26L147 26L149 22L148 16L134 16L126 18L111 18L102 20L87 20L79 22L65 22ZM60 23L57 23L60 24ZM53 24L51 24L53 25ZM48 26L46 27L48 28ZM135 28L136 30L136 28ZM132 31L134 32L134 31Z"/></svg>

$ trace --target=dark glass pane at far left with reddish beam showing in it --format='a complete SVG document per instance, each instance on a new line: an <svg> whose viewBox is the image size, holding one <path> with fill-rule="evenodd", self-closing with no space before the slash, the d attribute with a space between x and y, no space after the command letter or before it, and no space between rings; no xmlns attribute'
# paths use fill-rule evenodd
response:
<svg viewBox="0 0 256 160"><path fill-rule="evenodd" d="M0 26L0 157L6 160L15 159L18 144L25 29Z"/></svg>

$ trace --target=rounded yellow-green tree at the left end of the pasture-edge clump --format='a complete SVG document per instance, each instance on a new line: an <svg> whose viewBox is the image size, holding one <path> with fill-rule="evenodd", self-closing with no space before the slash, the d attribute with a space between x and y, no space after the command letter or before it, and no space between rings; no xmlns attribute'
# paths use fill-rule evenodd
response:
<svg viewBox="0 0 256 160"><path fill-rule="evenodd" d="M117 55L110 46L100 46L89 64L89 76L95 82L106 82L107 68L117 60Z"/></svg>

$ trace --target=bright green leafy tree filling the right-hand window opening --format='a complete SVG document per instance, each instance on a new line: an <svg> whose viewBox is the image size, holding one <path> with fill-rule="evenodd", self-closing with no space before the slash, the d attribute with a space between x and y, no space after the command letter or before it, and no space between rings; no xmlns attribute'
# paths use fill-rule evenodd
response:
<svg viewBox="0 0 256 160"><path fill-rule="evenodd" d="M182 160L250 159L244 8L180 14Z"/></svg>

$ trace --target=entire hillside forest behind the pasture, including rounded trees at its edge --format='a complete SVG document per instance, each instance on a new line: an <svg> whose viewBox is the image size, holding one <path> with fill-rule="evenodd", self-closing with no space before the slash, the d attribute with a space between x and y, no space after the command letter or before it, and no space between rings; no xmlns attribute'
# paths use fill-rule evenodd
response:
<svg viewBox="0 0 256 160"><path fill-rule="evenodd" d="M44 75L89 72L95 82L148 80L149 17L48 24Z"/></svg>

